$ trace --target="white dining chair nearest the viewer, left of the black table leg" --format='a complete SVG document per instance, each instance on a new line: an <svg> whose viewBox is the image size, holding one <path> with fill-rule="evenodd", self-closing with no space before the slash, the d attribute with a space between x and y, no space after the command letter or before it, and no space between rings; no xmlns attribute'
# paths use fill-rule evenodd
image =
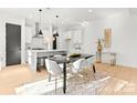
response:
<svg viewBox="0 0 137 103"><path fill-rule="evenodd" d="M49 81L52 76L55 78L55 93L56 93L56 86L57 86L57 78L62 75L62 68L55 62L50 59L45 59L45 65L46 70L50 73Z"/></svg>

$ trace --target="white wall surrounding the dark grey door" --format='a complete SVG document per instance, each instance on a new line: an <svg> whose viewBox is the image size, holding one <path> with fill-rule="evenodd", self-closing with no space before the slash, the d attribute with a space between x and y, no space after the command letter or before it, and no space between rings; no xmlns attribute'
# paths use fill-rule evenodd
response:
<svg viewBox="0 0 137 103"><path fill-rule="evenodd" d="M2 66L6 66L6 23L21 25L21 63L25 62L25 20L14 18L8 14L0 14L0 52L2 56Z"/></svg>

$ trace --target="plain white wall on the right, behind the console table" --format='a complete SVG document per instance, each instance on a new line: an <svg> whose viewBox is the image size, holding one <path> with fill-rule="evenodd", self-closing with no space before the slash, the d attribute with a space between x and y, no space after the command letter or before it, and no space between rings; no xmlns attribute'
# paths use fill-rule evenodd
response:
<svg viewBox="0 0 137 103"><path fill-rule="evenodd" d="M85 29L85 52L96 51L94 41L104 35L106 28L113 31L110 51L117 53L117 63L137 68L137 16L124 12L91 22Z"/></svg>

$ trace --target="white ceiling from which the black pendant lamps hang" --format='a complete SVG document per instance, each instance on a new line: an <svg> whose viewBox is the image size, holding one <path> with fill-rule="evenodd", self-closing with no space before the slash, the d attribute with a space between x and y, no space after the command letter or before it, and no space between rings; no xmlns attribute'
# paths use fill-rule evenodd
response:
<svg viewBox="0 0 137 103"><path fill-rule="evenodd" d="M137 13L137 9L126 8L41 8L42 22L55 23L55 16L59 14L60 24L86 23L88 21L105 18L110 14L129 11ZM28 21L39 21L39 8L1 8L0 12L24 18Z"/></svg>

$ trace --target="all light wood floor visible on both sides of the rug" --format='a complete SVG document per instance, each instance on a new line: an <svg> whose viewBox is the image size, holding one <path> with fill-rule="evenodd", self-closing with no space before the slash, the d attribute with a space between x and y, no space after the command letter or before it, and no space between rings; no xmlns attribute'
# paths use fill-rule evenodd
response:
<svg viewBox="0 0 137 103"><path fill-rule="evenodd" d="M137 69L110 66L102 63L96 63L95 65L97 71L106 72L112 76L112 80L104 86L101 94L137 94ZM34 73L29 70L28 65L8 66L0 71L0 94L14 94L15 87L45 78L48 78L45 70Z"/></svg>

